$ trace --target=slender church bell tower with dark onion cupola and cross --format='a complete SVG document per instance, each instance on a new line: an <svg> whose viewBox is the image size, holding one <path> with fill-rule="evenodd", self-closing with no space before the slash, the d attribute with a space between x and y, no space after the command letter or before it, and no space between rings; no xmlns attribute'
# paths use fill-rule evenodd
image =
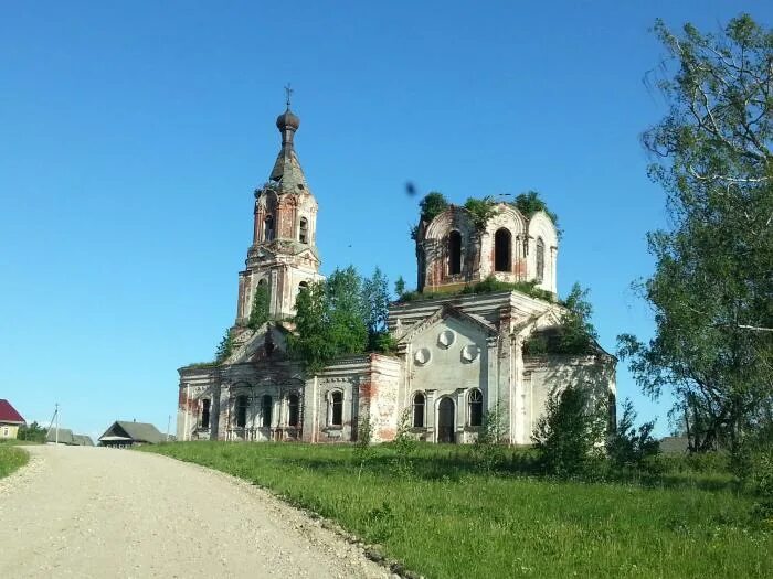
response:
<svg viewBox="0 0 773 579"><path fill-rule="evenodd" d="M253 242L246 268L239 272L236 325L250 319L255 289L266 285L272 319L295 313L295 300L304 286L321 279L317 251L317 200L306 183L295 152L300 119L287 109L276 119L282 149L268 181L255 190Z"/></svg>

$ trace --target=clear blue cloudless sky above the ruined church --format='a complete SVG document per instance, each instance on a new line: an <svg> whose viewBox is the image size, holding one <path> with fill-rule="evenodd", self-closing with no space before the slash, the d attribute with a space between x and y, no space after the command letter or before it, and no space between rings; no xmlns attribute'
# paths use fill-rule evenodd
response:
<svg viewBox="0 0 773 579"><path fill-rule="evenodd" d="M610 351L649 336L629 289L666 223L639 144L666 109L649 29L773 24L770 0L0 8L0 398L92 436L173 430L177 368L235 317L287 82L324 272L415 279L409 180L458 203L533 189L564 229L560 293L591 289ZM623 365L618 394L667 432Z"/></svg>

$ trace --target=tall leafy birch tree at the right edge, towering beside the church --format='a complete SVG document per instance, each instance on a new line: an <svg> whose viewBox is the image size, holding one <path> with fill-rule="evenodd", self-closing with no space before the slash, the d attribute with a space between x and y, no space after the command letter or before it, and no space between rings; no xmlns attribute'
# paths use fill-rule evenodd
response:
<svg viewBox="0 0 773 579"><path fill-rule="evenodd" d="M618 336L620 353L646 393L675 394L692 450L738 454L773 407L773 32L746 14L719 36L655 30L678 71L644 143L673 225L648 235L639 285L655 337Z"/></svg>

